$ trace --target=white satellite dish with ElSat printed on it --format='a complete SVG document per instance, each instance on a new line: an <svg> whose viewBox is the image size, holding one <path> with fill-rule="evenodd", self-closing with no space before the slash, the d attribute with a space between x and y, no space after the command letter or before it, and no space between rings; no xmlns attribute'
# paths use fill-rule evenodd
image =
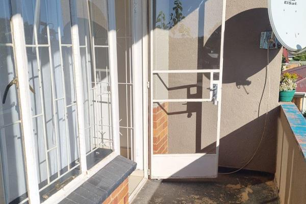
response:
<svg viewBox="0 0 306 204"><path fill-rule="evenodd" d="M306 51L306 1L269 0L269 19L279 42L292 54Z"/></svg>

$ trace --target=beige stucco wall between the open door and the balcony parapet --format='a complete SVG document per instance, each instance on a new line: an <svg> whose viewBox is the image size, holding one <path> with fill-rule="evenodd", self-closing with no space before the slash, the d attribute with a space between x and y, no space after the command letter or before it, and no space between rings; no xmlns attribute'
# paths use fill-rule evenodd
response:
<svg viewBox="0 0 306 204"><path fill-rule="evenodd" d="M260 49L259 44L261 32L269 30L267 0L226 1L220 166L242 167L262 136L268 101L267 50ZM275 108L281 55L281 49L270 50L271 95L266 134L258 154L246 169L275 171L278 115Z"/></svg>

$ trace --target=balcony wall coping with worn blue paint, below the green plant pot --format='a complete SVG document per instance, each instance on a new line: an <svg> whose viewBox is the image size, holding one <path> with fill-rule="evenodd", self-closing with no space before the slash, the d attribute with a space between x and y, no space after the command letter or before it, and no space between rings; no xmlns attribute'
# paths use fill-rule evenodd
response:
<svg viewBox="0 0 306 204"><path fill-rule="evenodd" d="M293 103L281 103L281 107L306 161L306 119Z"/></svg>

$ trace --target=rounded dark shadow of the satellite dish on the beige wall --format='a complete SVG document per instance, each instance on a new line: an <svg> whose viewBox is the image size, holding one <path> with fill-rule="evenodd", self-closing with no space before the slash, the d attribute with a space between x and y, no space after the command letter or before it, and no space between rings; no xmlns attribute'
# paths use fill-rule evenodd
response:
<svg viewBox="0 0 306 204"><path fill-rule="evenodd" d="M264 19L259 22L258 16ZM215 33L220 30L221 27L216 29ZM271 26L266 8L246 10L225 21L223 84L248 86L251 84L248 78L267 66L267 50L260 49L259 45L261 32L269 30ZM204 47L213 44L215 40L212 35ZM271 49L269 61L273 60L280 50Z"/></svg>

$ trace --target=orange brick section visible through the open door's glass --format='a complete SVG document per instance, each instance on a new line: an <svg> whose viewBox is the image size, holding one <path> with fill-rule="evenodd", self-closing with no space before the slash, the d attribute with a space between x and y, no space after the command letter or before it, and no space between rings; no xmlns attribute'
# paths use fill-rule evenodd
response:
<svg viewBox="0 0 306 204"><path fill-rule="evenodd" d="M153 108L153 154L168 154L168 103Z"/></svg>

